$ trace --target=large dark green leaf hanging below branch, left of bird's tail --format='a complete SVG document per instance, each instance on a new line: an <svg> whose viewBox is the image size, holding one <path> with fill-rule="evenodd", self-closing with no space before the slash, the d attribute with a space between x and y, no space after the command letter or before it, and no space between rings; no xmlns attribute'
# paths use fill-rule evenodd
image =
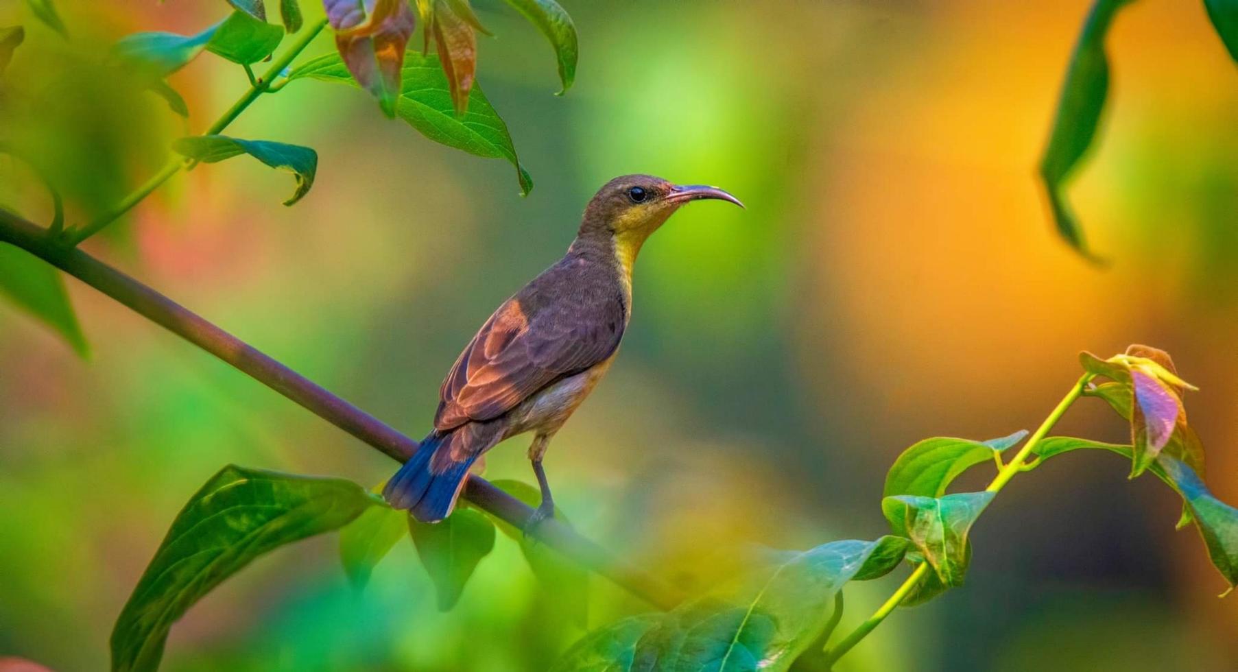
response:
<svg viewBox="0 0 1238 672"><path fill-rule="evenodd" d="M111 631L113 671L158 667L168 629L254 558L343 527L375 499L355 483L228 465L176 516Z"/></svg>

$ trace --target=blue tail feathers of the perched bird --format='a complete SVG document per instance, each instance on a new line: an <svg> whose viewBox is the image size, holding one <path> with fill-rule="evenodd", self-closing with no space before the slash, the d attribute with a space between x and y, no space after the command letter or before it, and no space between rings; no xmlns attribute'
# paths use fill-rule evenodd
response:
<svg viewBox="0 0 1238 672"><path fill-rule="evenodd" d="M432 432L421 442L417 452L383 489L383 498L387 504L394 509L407 509L421 522L438 522L451 514L456 494L468 475L469 467L477 459L477 455L473 455L452 463L442 473L432 473L431 458L439 448L451 446L451 437L452 433Z"/></svg>

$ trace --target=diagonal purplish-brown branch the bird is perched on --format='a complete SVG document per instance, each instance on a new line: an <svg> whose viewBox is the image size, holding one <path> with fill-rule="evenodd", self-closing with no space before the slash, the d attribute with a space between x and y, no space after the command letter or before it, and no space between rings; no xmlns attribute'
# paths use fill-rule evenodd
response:
<svg viewBox="0 0 1238 672"><path fill-rule="evenodd" d="M376 417L328 392L312 380L146 285L80 250L56 244L50 239L47 230L4 209L0 209L0 241L24 249L124 303L142 317L215 355L392 459L405 462L417 449L416 441ZM526 504L479 476L469 476L463 496L517 528L524 527L534 512ZM532 533L546 546L655 606L670 609L682 599L678 590L614 558L597 543L556 520L543 521Z"/></svg>

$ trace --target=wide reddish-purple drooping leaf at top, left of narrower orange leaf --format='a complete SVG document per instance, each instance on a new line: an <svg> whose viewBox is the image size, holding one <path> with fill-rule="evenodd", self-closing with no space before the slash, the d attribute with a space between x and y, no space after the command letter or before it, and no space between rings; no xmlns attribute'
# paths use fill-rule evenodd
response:
<svg viewBox="0 0 1238 672"><path fill-rule="evenodd" d="M323 0L335 48L348 72L378 98L387 116L400 99L404 50L416 25L405 0ZM369 11L366 11L369 10Z"/></svg>

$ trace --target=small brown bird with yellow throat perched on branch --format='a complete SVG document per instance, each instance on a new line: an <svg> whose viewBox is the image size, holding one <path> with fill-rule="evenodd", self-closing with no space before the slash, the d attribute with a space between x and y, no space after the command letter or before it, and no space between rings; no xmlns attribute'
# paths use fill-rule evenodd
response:
<svg viewBox="0 0 1238 672"><path fill-rule="evenodd" d="M589 200L563 259L505 301L464 347L439 389L435 429L383 490L422 522L447 517L469 467L500 441L534 433L529 447L541 504L555 511L542 457L555 432L589 396L631 317L631 267L645 239L685 203L735 197L647 174L608 182Z"/></svg>

